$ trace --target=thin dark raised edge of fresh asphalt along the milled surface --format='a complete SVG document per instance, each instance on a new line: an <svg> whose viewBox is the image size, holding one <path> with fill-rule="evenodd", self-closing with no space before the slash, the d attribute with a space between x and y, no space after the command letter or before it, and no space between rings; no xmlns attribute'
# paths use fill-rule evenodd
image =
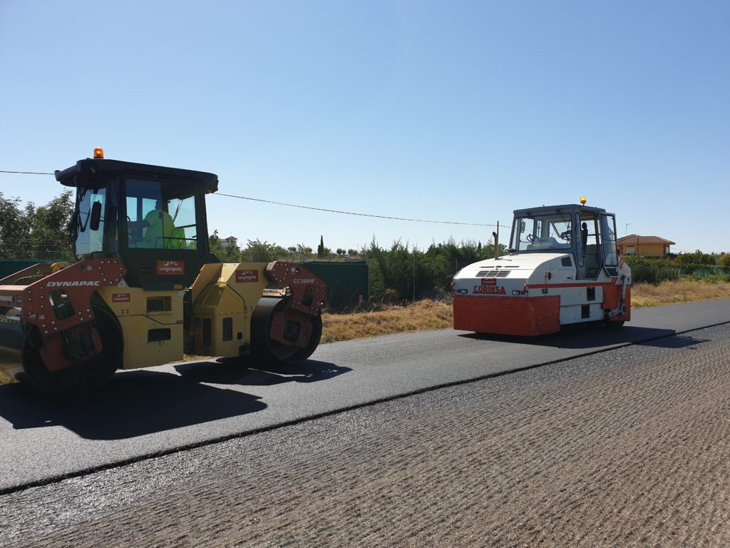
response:
<svg viewBox="0 0 730 548"><path fill-rule="evenodd" d="M210 440L205 440L205 441L196 441L193 444L186 444L183 446L176 447L174 449L164 449L163 451L145 453L145 454L141 454L137 457L132 457L129 459L124 459L124 460L118 460L115 463L107 463L104 465L94 466L92 468L85 468L84 470L80 470L80 471L76 471L76 472L60 474L58 476L50 476L49 478L42 479L37 482L28 482L25 484L15 485L12 487L0 488L0 496L12 495L13 493L25 491L28 489L34 489L35 487L45 487L47 485L61 483L61 482L64 482L66 479L74 479L74 478L80 478L83 476L91 476L91 474L93 474L93 473L113 470L115 468L123 468L125 466L141 463L145 460L153 460L153 459L160 458L160 457L167 457L172 454L182 453L185 451L191 451L192 449L199 449L201 447L206 447L206 446L216 445L216 444L224 444L227 441L238 440L238 439L242 439L242 438L247 438L251 435L272 432L274 430L279 430L280 428L301 425L304 422L315 421L318 419L326 418L328 416L334 416L334 415L341 414L341 413L347 413L348 411L356 411L357 409L362 409L362 408L366 408L366 407L370 407L370 406L377 406L380 403L388 403L388 402L395 401L395 400L405 399L405 398L411 397L411 396L426 394L427 392L435 392L436 390L440 390L440 389L444 389L444 388L458 387L458 386L462 386L465 384L485 381L488 378L497 378L497 377L501 377L501 376L505 376L505 375L510 375L512 373L520 373L522 371L529 371L531 369L543 368L547 365L554 365L556 363L561 363L561 362L569 362L572 359L583 358L583 357L588 357L588 356L595 356L596 354L603 354L604 352L612 351L615 349L626 348L627 346L634 346L634 345L639 345L642 343L648 343L648 342L651 342L652 340L660 340L660 339L669 338L669 337L676 337L677 335L684 335L685 333L691 333L693 331L710 329L711 327L718 327L718 326L726 325L726 324L730 324L730 321L721 321L717 324L710 324L710 325L706 325L703 327L694 327L691 330L675 331L671 335L658 335L657 337L652 337L652 338L648 338L648 339L644 339L644 340L637 340L637 341L634 341L631 343L616 344L616 345L609 346L604 349L594 350L591 352L587 352L585 354L579 354L577 356L571 356L568 358L561 358L561 359L551 359L548 362L541 362L541 363L537 363L537 364L533 364L533 365L526 365L523 368L510 369L510 370L506 370L506 371L497 371L496 373L488 373L486 375L481 375L481 376L474 377L474 378L467 378L467 379L464 379L461 381L451 381L451 382L447 382L447 383L437 384L433 387L426 387L426 388L421 388L418 390L412 390L411 392L405 392L403 394L398 394L398 395L393 395L393 396L388 396L388 397L381 397L381 398L378 398L377 400L371 400L371 401L364 402L364 403L357 403L353 406L333 409L331 411L323 411L322 413L308 415L308 416L301 416L301 417L299 417L299 419L292 419L292 420L289 420L286 422L280 422L277 425L263 426L263 427L255 428L254 430L247 430L246 432L241 432L241 433L237 433L237 434L224 435L224 436L220 436L218 438L212 438Z"/></svg>

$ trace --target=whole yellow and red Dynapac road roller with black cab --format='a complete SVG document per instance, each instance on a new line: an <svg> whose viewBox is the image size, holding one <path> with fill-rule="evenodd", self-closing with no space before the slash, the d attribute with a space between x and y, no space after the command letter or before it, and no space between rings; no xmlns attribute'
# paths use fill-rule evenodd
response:
<svg viewBox="0 0 730 548"><path fill-rule="evenodd" d="M301 265L223 264L205 196L218 177L94 157L56 179L76 189L77 262L0 280L0 370L43 392L95 387L119 368L183 354L296 363L318 346L326 286Z"/></svg>

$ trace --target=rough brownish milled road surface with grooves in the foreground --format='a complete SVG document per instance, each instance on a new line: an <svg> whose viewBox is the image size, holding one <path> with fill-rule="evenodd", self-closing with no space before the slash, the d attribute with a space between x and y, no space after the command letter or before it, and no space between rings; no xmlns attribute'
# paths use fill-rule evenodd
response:
<svg viewBox="0 0 730 548"><path fill-rule="evenodd" d="M730 328L0 498L3 547L730 546Z"/></svg>

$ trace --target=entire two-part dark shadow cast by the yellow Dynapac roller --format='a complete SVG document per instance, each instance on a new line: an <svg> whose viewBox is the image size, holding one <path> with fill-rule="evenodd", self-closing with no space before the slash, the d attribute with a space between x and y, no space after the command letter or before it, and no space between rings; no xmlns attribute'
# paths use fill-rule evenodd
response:
<svg viewBox="0 0 730 548"><path fill-rule="evenodd" d="M351 371L328 362L265 366L254 359L219 359L158 370L117 373L91 395L45 400L23 384L0 386L0 417L15 430L62 426L82 438L120 440L199 425L266 409L255 395L210 384L273 386L310 383Z"/></svg>

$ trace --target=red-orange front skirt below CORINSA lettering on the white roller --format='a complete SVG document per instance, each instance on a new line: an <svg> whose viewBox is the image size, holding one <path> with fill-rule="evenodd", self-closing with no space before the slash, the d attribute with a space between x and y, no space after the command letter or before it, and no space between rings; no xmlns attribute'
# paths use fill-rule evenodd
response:
<svg viewBox="0 0 730 548"><path fill-rule="evenodd" d="M454 329L499 335L560 331L560 297L453 297Z"/></svg>

